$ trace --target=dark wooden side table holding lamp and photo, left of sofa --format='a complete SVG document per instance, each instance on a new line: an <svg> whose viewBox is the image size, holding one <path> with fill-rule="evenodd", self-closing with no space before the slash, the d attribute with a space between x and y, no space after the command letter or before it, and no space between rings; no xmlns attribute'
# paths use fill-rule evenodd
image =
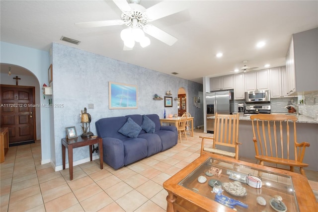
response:
<svg viewBox="0 0 318 212"><path fill-rule="evenodd" d="M103 140L100 137L96 138L75 138L62 139L62 160L63 169L65 169L65 148L68 148L70 180L73 180L73 148L89 145L90 161L92 161L92 145L98 143L100 169L103 169Z"/></svg>

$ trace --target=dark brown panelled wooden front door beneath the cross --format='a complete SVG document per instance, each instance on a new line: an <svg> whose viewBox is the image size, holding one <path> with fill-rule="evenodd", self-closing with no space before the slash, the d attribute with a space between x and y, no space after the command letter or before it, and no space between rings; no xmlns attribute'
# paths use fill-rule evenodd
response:
<svg viewBox="0 0 318 212"><path fill-rule="evenodd" d="M1 85L1 127L9 129L9 144L35 140L34 87Z"/></svg>

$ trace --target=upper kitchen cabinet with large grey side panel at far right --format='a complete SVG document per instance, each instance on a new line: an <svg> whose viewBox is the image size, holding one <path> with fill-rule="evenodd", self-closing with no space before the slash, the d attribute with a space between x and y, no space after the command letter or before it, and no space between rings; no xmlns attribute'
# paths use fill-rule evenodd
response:
<svg viewBox="0 0 318 212"><path fill-rule="evenodd" d="M287 95L318 90L318 28L293 34L286 55Z"/></svg>

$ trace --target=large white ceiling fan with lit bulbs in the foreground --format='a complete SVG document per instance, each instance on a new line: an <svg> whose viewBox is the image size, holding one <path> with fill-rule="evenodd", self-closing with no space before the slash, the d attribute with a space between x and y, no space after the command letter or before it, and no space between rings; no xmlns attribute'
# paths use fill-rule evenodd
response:
<svg viewBox="0 0 318 212"><path fill-rule="evenodd" d="M148 46L150 44L150 39L145 36L144 32L159 41L172 46L178 39L162 31L158 27L149 24L149 22L180 12L190 6L190 1L188 0L161 1L147 9L139 4L140 0L129 0L130 3L128 3L127 0L113 1L122 11L121 19L80 22L75 23L75 25L85 28L127 25L128 27L123 29L120 34L124 41L124 50L132 50L135 41L139 42L142 47Z"/></svg>

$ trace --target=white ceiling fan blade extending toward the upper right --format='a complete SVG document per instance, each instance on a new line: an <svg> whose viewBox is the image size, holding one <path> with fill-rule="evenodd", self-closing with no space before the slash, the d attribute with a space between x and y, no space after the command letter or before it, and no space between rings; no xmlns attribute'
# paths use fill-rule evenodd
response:
<svg viewBox="0 0 318 212"><path fill-rule="evenodd" d="M147 8L144 14L149 21L157 20L159 18L180 12L190 7L191 1L179 1L179 0L164 0L154 6Z"/></svg>

